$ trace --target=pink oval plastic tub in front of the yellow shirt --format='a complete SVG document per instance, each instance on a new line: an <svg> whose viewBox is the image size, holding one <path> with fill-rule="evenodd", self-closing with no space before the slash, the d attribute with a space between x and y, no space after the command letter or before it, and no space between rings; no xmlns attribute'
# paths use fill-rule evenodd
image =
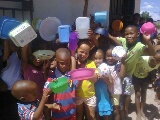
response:
<svg viewBox="0 0 160 120"><path fill-rule="evenodd" d="M70 71L68 74L70 75L71 80L87 80L94 76L95 69L93 68L79 68Z"/></svg>

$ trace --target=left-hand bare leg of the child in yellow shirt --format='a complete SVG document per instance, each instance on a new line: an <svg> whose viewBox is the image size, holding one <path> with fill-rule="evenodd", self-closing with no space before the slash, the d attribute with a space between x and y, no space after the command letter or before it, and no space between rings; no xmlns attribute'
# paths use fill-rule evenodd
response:
<svg viewBox="0 0 160 120"><path fill-rule="evenodd" d="M76 106L76 120L83 120L83 104Z"/></svg>

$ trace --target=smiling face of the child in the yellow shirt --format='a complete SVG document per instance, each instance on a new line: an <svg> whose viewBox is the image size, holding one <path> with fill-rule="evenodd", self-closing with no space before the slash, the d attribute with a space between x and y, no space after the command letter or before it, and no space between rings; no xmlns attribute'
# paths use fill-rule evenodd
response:
<svg viewBox="0 0 160 120"><path fill-rule="evenodd" d="M77 49L77 57L79 61L85 61L90 52L90 46L87 44L82 44L78 49Z"/></svg>

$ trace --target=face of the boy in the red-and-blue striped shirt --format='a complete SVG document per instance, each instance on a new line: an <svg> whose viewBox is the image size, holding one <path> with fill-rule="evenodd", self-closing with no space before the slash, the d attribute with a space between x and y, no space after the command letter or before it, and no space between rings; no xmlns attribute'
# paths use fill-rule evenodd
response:
<svg viewBox="0 0 160 120"><path fill-rule="evenodd" d="M71 64L71 56L67 56L66 58L57 57L56 61L57 61L57 68L61 72L69 71Z"/></svg>

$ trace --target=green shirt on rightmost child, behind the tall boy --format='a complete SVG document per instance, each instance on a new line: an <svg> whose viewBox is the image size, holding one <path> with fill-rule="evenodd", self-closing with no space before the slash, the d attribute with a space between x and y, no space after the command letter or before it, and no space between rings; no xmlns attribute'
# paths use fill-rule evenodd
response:
<svg viewBox="0 0 160 120"><path fill-rule="evenodd" d="M145 78L148 76L148 73L154 69L158 69L160 64L157 64L155 67L151 68L149 66L149 62L151 60L151 56L142 56L139 58L139 61L136 65L134 76L137 78Z"/></svg>

